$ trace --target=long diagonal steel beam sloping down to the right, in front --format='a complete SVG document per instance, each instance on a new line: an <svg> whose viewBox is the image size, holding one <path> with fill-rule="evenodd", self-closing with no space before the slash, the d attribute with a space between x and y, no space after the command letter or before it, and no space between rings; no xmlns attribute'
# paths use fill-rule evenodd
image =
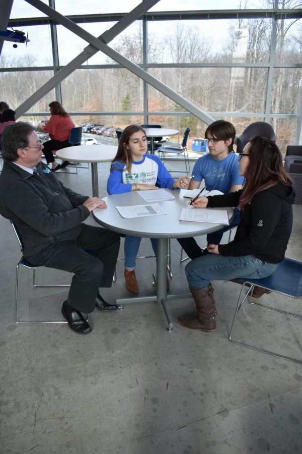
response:
<svg viewBox="0 0 302 454"><path fill-rule="evenodd" d="M128 69L133 74L135 74L142 80L146 81L149 85L152 85L154 88L161 91L164 95L168 96L170 99L175 101L177 104L181 105L183 108L185 108L186 110L191 112L192 115L196 116L204 123L210 124L213 121L212 117L210 117L207 113L205 113L203 110L198 108L195 104L188 101L186 98L181 96L176 91L172 90L167 85L163 84L161 81L159 81L154 76L150 75L148 72L139 68L137 65L132 63L130 60L126 59L120 53L113 50L111 47L109 47L107 44L105 44L105 42L103 42L103 40L101 41L101 39L96 38L95 36L91 35L89 32L87 32L83 28L79 27L79 25L74 24L72 21L70 21L66 17L62 16L57 11L54 11L51 8L49 8L47 5L42 3L40 0L26 0L26 2L28 2L29 4L31 4L34 7L38 8L40 11L47 14L53 20L57 21L58 23L60 23L64 27L66 27L68 30L72 31L73 33L77 34L81 38L88 41L92 46L101 50L103 53L108 55L111 59L115 60L120 65L122 65L124 68ZM147 3L148 3L148 0L145 0L144 2L142 2L142 4L144 6ZM118 24L116 24L116 25L118 25Z"/></svg>

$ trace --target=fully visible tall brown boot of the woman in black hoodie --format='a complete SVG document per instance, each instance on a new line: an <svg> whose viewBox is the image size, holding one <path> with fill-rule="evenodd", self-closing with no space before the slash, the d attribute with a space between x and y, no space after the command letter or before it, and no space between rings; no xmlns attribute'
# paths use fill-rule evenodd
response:
<svg viewBox="0 0 302 454"><path fill-rule="evenodd" d="M180 317L179 323L186 328L214 332L216 329L215 317L217 311L211 284L203 289L190 290L196 304L197 316Z"/></svg>

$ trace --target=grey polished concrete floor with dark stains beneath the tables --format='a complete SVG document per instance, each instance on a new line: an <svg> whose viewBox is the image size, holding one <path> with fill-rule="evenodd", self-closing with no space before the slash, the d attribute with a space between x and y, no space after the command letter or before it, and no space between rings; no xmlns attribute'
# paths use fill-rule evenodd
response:
<svg viewBox="0 0 302 454"><path fill-rule="evenodd" d="M109 164L99 166L106 195ZM91 175L58 175L64 184L91 193ZM302 257L302 206L294 206L287 256ZM89 222L94 223L93 219ZM229 342L240 287L213 282L218 316L215 333L177 323L193 311L192 299L169 302L174 321L166 330L157 303L130 304L112 314L95 312L88 336L67 325L14 323L15 267L20 250L8 220L1 228L0 451L6 454L289 454L302 451L302 366ZM204 244L205 239L199 238ZM226 241L226 238L225 238ZM151 252L142 240L142 253ZM121 249L121 256L123 251ZM187 291L180 246L172 241L171 291ZM140 259L140 294L155 292L154 259ZM65 288L32 287L21 270L20 315L60 319ZM39 270L40 282L68 282L70 275ZM123 262L108 301L129 296ZM301 301L271 294L267 304L299 309ZM302 311L301 311L302 312ZM302 359L300 320L243 307L234 336Z"/></svg>

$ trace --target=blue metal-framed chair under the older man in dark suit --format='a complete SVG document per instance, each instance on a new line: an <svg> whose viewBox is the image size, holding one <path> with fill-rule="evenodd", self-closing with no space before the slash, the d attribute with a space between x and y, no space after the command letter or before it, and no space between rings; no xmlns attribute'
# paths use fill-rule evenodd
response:
<svg viewBox="0 0 302 454"><path fill-rule="evenodd" d="M17 324L26 324L26 323L36 323L36 324L45 324L45 323L67 323L66 320L20 320L18 319L18 283L19 283L19 266L22 265L25 268L30 268L33 270L33 286L34 287L70 287L70 284L37 284L35 281L35 276L36 276L36 269L38 268L44 268L42 265L34 265L32 263L29 263L24 257L23 257L23 243L21 240L21 237L19 235L19 232L16 228L16 225L14 221L10 219L10 222L12 224L12 227L14 229L15 235L17 237L20 249L21 249L21 258L19 262L17 263L17 268L16 268L16 290L15 290L15 323ZM89 252L89 251L87 251ZM88 320L88 316L86 314L86 319Z"/></svg>

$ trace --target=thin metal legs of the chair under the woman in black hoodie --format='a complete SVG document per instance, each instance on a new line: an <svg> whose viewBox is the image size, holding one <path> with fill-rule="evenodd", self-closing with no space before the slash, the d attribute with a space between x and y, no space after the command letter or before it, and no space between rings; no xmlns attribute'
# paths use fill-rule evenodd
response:
<svg viewBox="0 0 302 454"><path fill-rule="evenodd" d="M244 304L244 302L247 300L248 297L249 297L249 300L250 300L251 304L254 304L254 305L257 305L257 306L262 306L262 307L265 307L266 309L271 309L271 310L274 310L274 311L277 311L277 312L282 312L282 313L287 314L287 315L292 315L294 317L302 318L302 315L300 315L300 314L284 311L282 309L277 309L277 308L274 308L274 307L269 307L269 306L266 306L266 305L261 304L261 303L252 302L251 301L251 296L252 296L252 293L253 293L253 290L254 290L254 286L251 286L249 288L247 294L245 295L245 297L241 301L241 296L242 296L244 287L245 287L245 282L243 282L243 285L242 285L242 288L241 288L241 291L240 291L240 295L239 295L239 299L238 299L238 303L237 303L237 308L236 308L234 319L233 319L233 323L232 323L232 326L231 326L231 331L230 331L230 334L229 334L229 339L232 342L232 344L240 345L242 347L246 347L246 348L251 349L251 350L256 350L256 351L261 352L261 353L266 353L267 355L270 355L270 356L275 356L277 358L282 358L282 359L285 359L285 360L288 360L288 361L292 361L293 363L302 364L302 361L298 360L296 358L293 358L293 357L290 357L290 356L281 355L281 354L278 354L278 353L275 353L275 352L272 352L272 351L269 351L269 350L261 349L260 347L252 346L252 345L249 345L249 344L245 344L243 342L235 341L232 338L232 332L233 332L233 328L234 328L234 325L235 325L235 320L237 318L238 312L239 312L240 308L242 307L242 305Z"/></svg>

